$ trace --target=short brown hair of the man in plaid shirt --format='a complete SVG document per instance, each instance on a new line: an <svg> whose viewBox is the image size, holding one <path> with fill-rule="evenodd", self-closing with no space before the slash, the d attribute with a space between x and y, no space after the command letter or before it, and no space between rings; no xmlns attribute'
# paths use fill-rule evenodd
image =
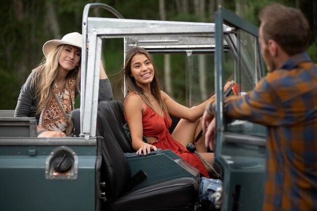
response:
<svg viewBox="0 0 317 211"><path fill-rule="evenodd" d="M273 39L289 56L307 49L309 25L300 10L271 4L262 9L259 18L265 43Z"/></svg>

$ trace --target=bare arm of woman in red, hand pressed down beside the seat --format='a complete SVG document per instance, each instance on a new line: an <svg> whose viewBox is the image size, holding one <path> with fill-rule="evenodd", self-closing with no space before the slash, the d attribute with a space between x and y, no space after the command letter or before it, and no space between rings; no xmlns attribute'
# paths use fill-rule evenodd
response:
<svg viewBox="0 0 317 211"><path fill-rule="evenodd" d="M144 155L150 153L151 149L156 151L155 146L142 141L142 112L145 108L145 102L138 94L131 94L126 97L124 109L131 132L132 147L137 150L137 154L141 154L143 152Z"/></svg>

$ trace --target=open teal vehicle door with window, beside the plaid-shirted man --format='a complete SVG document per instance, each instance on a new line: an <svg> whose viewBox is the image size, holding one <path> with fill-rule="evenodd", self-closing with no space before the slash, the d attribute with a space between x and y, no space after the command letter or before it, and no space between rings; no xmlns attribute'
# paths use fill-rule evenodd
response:
<svg viewBox="0 0 317 211"><path fill-rule="evenodd" d="M221 210L261 210L264 192L266 129L246 120L228 119L224 113L223 86L237 85L231 95L253 90L264 76L258 27L220 7L216 23L216 137L215 165L223 177ZM223 30L223 24L228 26ZM223 40L230 51L223 51ZM230 61L232 58L233 62ZM228 72L233 72L229 76Z"/></svg>

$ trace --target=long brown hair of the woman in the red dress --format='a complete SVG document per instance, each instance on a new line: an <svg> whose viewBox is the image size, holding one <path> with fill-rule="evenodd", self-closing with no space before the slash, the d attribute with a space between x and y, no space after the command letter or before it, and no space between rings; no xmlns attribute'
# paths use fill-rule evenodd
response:
<svg viewBox="0 0 317 211"><path fill-rule="evenodd" d="M166 115L169 115L168 110L166 108L166 105L163 101L162 95L161 95L161 83L159 80L159 76L157 76L156 67L154 65L153 58L151 55L143 48L135 47L128 51L126 55L126 61L125 61L125 67L123 69L123 74L126 81L126 87L129 93L137 93L141 96L141 98L144 100L144 102L154 110L152 104L150 103L149 99L144 95L144 92L141 87L139 87L135 81L135 78L131 76L131 61L134 55L136 54L144 54L152 63L153 69L154 69L154 77L153 80L150 83L150 91L155 100L159 103L160 107L164 109ZM127 95L128 96L128 95Z"/></svg>

